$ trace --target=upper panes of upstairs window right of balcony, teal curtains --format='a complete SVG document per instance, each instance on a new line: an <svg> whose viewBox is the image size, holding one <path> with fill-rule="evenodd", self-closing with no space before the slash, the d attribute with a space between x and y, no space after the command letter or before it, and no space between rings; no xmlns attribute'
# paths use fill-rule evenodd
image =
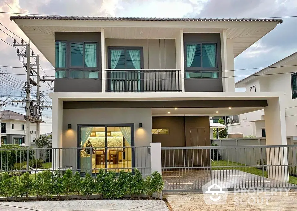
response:
<svg viewBox="0 0 297 211"><path fill-rule="evenodd" d="M216 68L216 44L187 44L187 67Z"/></svg>

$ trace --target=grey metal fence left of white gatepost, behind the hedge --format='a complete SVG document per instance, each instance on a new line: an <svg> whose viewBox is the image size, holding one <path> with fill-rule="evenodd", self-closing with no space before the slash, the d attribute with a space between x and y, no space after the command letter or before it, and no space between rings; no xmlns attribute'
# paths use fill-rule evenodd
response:
<svg viewBox="0 0 297 211"><path fill-rule="evenodd" d="M134 171L143 177L151 174L149 146L133 147L87 147L87 148L12 148L0 149L0 173L21 178L29 172L35 178L39 172L67 169L79 171L82 176L96 176L99 169L105 171Z"/></svg>

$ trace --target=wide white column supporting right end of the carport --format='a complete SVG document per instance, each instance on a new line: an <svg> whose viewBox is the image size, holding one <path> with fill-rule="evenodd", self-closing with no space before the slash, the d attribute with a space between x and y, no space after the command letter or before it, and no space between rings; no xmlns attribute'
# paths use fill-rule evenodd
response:
<svg viewBox="0 0 297 211"><path fill-rule="evenodd" d="M266 145L286 145L286 119L283 96L268 100L265 110ZM263 150L265 152L265 150ZM286 147L266 149L268 177L272 179L288 181L288 159ZM280 165L280 166L278 166Z"/></svg>

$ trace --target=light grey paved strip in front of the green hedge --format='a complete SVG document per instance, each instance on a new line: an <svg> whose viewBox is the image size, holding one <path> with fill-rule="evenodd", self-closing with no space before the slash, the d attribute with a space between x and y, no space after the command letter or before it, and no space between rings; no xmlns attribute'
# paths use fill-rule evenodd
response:
<svg viewBox="0 0 297 211"><path fill-rule="evenodd" d="M0 211L89 211L89 210L143 210L169 211L164 201L157 200L76 200L2 202Z"/></svg>

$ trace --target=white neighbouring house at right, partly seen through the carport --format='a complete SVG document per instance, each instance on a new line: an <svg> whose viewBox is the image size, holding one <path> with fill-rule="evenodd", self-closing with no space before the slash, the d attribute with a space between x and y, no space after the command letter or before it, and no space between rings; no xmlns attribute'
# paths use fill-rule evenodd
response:
<svg viewBox="0 0 297 211"><path fill-rule="evenodd" d="M285 94L286 136L297 139L297 52L235 83L246 92L280 91ZM238 118L238 117L237 117ZM264 109L239 115L239 121L228 125L230 133L266 137Z"/></svg>

